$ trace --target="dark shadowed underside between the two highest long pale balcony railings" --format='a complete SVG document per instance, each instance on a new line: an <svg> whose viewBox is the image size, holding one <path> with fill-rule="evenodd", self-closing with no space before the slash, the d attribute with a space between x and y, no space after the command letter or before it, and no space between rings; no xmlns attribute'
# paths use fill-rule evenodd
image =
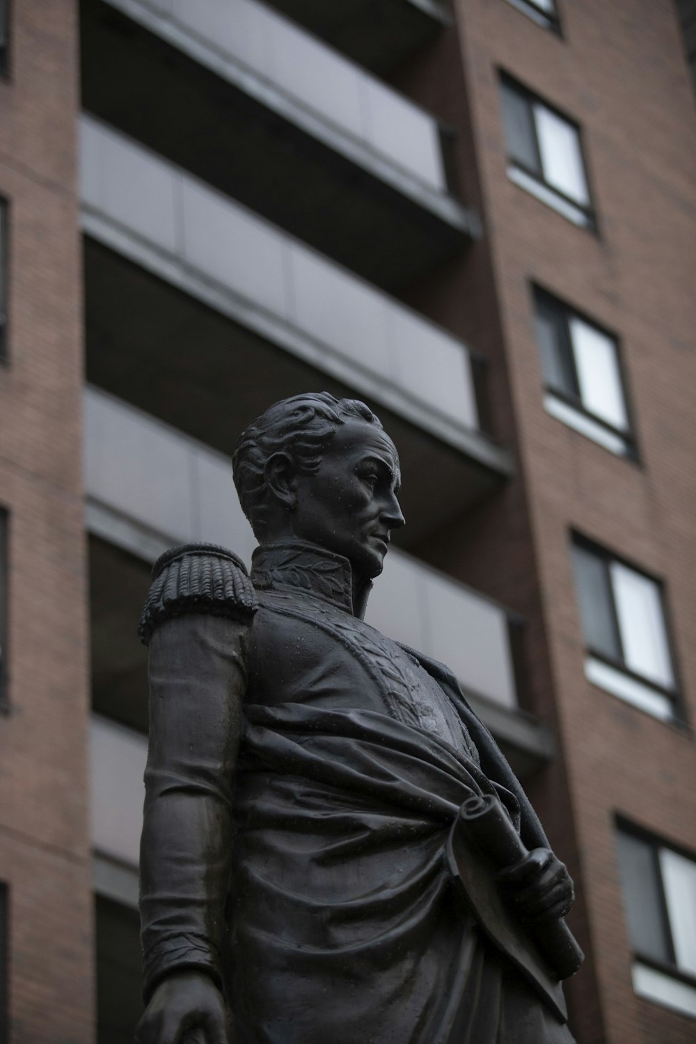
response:
<svg viewBox="0 0 696 1044"><path fill-rule="evenodd" d="M82 3L81 41L87 110L378 286L465 246L461 205L272 85L233 84L104 4Z"/></svg>

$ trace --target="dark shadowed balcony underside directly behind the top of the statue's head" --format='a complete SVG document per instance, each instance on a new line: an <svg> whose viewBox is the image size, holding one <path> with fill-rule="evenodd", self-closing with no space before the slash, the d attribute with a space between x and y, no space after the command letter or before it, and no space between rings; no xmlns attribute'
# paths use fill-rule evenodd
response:
<svg viewBox="0 0 696 1044"><path fill-rule="evenodd" d="M379 382L351 386L86 239L88 380L231 455L238 434L271 403L308 390L364 399L401 454L408 548L455 519L505 477L385 408Z"/></svg>

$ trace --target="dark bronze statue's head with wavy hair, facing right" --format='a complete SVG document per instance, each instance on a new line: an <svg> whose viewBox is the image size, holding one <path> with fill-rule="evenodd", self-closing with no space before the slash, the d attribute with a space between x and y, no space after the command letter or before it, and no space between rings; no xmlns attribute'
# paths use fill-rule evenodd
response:
<svg viewBox="0 0 696 1044"><path fill-rule="evenodd" d="M327 392L270 406L242 432L235 485L261 543L304 540L377 576L404 524L399 455L362 402Z"/></svg>

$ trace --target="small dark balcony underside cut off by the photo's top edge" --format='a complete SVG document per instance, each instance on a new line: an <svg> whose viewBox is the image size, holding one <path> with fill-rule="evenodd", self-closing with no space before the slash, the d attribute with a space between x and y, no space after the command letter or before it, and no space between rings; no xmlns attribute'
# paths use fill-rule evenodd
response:
<svg viewBox="0 0 696 1044"><path fill-rule="evenodd" d="M424 47L449 19L438 0L267 0L343 54L385 73Z"/></svg>

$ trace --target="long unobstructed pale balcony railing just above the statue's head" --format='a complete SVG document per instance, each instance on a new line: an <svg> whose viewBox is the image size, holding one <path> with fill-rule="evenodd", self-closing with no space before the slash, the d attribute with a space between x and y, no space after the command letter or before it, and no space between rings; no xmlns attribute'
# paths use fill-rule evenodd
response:
<svg viewBox="0 0 696 1044"><path fill-rule="evenodd" d="M82 117L80 137L92 239L477 465L509 472L479 430L461 341L93 118Z"/></svg>

